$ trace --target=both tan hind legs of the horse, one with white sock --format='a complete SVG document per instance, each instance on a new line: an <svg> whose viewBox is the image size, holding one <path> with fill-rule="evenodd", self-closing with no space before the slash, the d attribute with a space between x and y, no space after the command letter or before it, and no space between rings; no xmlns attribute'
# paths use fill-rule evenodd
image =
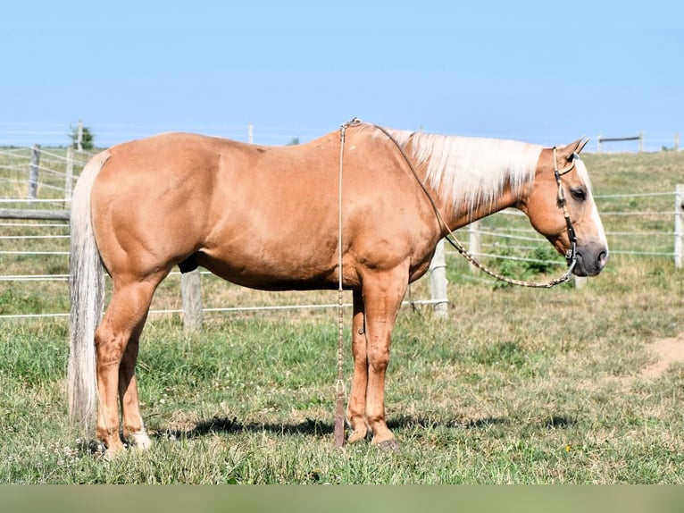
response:
<svg viewBox="0 0 684 513"><path fill-rule="evenodd" d="M138 356L138 337L159 281L161 278L158 281L121 283L115 279L112 301L97 328L99 408L96 436L104 442L109 453L123 449L117 400L120 392L126 431L144 433L138 411L134 366Z"/></svg>

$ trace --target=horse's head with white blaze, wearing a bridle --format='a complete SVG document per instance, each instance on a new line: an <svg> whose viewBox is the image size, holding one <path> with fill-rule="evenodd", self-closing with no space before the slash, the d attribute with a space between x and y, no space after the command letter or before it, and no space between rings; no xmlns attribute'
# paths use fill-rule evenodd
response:
<svg viewBox="0 0 684 513"><path fill-rule="evenodd" d="M566 147L544 149L525 202L532 226L567 258L568 265L574 263L578 276L595 276L608 261L604 227L579 156L587 142L578 139Z"/></svg>

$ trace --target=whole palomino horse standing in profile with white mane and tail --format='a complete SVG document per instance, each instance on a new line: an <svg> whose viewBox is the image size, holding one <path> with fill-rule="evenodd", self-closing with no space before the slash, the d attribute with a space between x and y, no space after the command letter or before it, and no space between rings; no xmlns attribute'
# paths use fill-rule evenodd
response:
<svg viewBox="0 0 684 513"><path fill-rule="evenodd" d="M576 235L573 272L604 267L605 233L577 157L586 141L552 149L345 127L346 138L335 131L293 147L167 133L107 149L84 169L71 209L69 400L86 426L96 414L109 453L123 447L118 400L123 436L150 444L138 341L174 265L255 289L313 290L338 288L341 264L354 298L349 442L370 430L390 447L384 388L396 315L448 230L514 206L565 254L564 211ZM100 321L103 266L113 297Z"/></svg>

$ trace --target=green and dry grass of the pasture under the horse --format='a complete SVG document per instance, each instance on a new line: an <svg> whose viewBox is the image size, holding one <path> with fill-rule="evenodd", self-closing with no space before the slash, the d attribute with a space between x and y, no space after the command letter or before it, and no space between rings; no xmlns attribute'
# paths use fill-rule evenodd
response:
<svg viewBox="0 0 684 513"><path fill-rule="evenodd" d="M684 183L681 152L584 160L599 196ZM672 198L596 203L600 211L671 210ZM488 222L516 222L495 217ZM684 271L671 258L629 254L646 246L671 251L671 238L611 235L671 231L668 223L605 216L611 248L625 253L613 253L605 271L578 289L500 286L447 256L449 318L417 306L404 307L397 321L387 388L397 452L368 442L334 447L333 310L212 313L198 333L184 331L177 315L152 315L138 380L154 446L113 461L93 455L67 420L67 320L1 320L0 482L684 483ZM4 249L20 244L65 247L62 239L38 239L9 240ZM4 274L68 272L66 259L54 255L3 254L0 265ZM499 269L543 278L525 261ZM337 299L337 292L267 294L203 280L208 307ZM179 307L178 281L163 282L153 308ZM426 297L427 286L415 283L412 296ZM66 282L0 287L0 314L68 311ZM348 341L349 309L345 319ZM351 368L347 342L347 387Z"/></svg>

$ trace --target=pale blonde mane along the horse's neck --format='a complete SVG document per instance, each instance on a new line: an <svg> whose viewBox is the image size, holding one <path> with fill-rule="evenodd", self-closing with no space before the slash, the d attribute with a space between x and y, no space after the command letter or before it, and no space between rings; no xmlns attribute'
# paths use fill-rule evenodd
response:
<svg viewBox="0 0 684 513"><path fill-rule="evenodd" d="M446 202L469 213L478 206L492 206L506 185L518 194L534 180L542 150L539 145L508 139L386 130L416 164L427 164L426 182Z"/></svg>

